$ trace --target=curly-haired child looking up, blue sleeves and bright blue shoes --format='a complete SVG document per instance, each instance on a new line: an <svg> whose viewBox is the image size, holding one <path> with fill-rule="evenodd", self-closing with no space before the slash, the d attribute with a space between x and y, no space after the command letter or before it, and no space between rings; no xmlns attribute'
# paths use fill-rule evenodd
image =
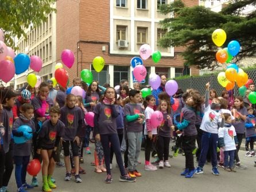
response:
<svg viewBox="0 0 256 192"><path fill-rule="evenodd" d="M181 175L192 178L196 169L194 167L193 150L196 147L196 111L200 110L203 99L198 93L191 93L185 101L186 106L181 109L181 123L177 123L177 133L183 131L183 150L185 152L185 171Z"/></svg>

